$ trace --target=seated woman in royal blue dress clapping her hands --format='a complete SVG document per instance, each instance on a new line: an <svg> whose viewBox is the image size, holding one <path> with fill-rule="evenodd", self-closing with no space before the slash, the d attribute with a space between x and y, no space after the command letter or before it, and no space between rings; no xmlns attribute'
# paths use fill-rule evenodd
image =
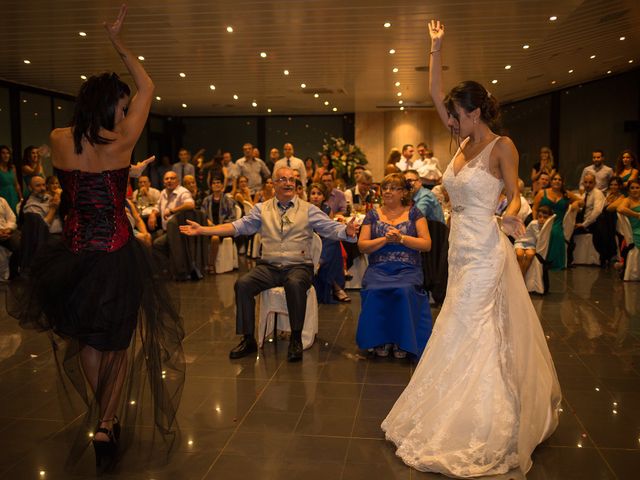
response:
<svg viewBox="0 0 640 480"><path fill-rule="evenodd" d="M424 292L420 252L431 248L426 219L410 207L411 192L399 173L382 181L380 208L367 212L358 247L369 255L362 279L362 308L356 341L386 357L407 352L420 357L431 333L429 297Z"/></svg>

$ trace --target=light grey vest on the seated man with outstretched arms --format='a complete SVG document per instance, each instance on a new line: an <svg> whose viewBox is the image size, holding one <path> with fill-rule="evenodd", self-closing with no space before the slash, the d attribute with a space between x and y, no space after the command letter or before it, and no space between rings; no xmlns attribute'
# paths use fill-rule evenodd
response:
<svg viewBox="0 0 640 480"><path fill-rule="evenodd" d="M262 260L283 266L313 263L310 204L297 199L293 206L281 215L277 201L276 198L272 198L262 204Z"/></svg>

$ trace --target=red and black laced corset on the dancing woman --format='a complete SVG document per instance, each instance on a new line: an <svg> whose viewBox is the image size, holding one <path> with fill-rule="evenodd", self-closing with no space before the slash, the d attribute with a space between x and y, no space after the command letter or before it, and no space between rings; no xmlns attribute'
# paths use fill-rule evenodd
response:
<svg viewBox="0 0 640 480"><path fill-rule="evenodd" d="M113 252L131 236L125 212L129 167L104 172L59 170L63 236L71 251Z"/></svg>

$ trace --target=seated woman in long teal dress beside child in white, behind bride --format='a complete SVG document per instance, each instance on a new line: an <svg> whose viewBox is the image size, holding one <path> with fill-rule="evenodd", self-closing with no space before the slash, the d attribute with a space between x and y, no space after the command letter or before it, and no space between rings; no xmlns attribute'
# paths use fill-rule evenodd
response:
<svg viewBox="0 0 640 480"><path fill-rule="evenodd" d="M551 187L540 190L533 200L533 218L538 217L538 207L542 205L551 208L556 216L551 230L547 260L551 263L552 270L562 270L567 266L567 246L562 221L569 208L579 208L580 199L567 192L562 175L556 173L551 178Z"/></svg>

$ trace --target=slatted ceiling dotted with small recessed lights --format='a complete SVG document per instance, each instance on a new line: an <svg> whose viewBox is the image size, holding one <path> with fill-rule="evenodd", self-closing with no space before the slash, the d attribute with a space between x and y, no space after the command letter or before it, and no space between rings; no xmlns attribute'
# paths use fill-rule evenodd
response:
<svg viewBox="0 0 640 480"><path fill-rule="evenodd" d="M0 78L74 94L81 75L124 74L102 30L117 1L1 5ZM503 102L640 63L638 0L132 0L123 36L145 57L161 97L156 113L375 111L398 108L400 98L409 108L430 105L427 73L416 67L428 64L431 18L446 26L445 86L474 79Z"/></svg>

